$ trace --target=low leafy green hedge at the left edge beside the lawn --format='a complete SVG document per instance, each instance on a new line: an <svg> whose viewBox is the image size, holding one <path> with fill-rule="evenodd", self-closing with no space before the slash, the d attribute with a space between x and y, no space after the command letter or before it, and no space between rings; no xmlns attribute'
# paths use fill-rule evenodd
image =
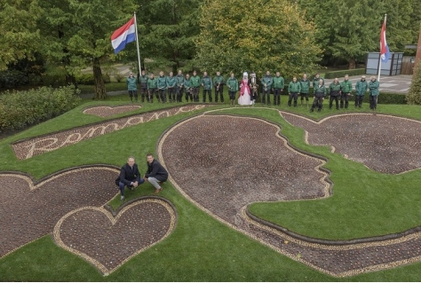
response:
<svg viewBox="0 0 421 283"><path fill-rule="evenodd" d="M73 85L6 91L0 94L0 131L19 130L63 114L78 105L78 94Z"/></svg>

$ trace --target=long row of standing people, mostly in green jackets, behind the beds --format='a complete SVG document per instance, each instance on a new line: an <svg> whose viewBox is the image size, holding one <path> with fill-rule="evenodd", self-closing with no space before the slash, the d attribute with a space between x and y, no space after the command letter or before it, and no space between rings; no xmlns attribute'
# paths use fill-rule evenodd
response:
<svg viewBox="0 0 421 283"><path fill-rule="evenodd" d="M263 105L271 105L271 93L274 94L274 106L281 105L281 94L284 90L285 81L280 75L280 72L276 72L275 76L270 74L270 71L266 71L266 75L260 80L262 84L262 96L261 102ZM160 72L160 75L155 78L153 74L146 75L146 71L143 70L142 74L139 76L140 83L140 95L141 101L144 102L145 99L147 102L153 102L154 97L158 102L167 102L167 94L170 102L181 102L183 93L185 93L186 101L199 102L199 89L203 87L203 96L202 102L206 102L206 98L209 98L209 101L212 102L212 88L215 91L215 102L224 102L223 90L224 85L228 87L228 95L230 98L230 105L234 106L234 100L236 93L240 90L238 97L239 105L254 105L255 101L258 98L258 82L256 74L253 72L248 77L247 73L243 73L242 80L240 83L234 77L234 73L225 80L224 76L217 72L217 74L211 78L207 72L203 73L201 78L194 71L193 75L183 75L182 71L179 70L178 75L173 75L172 72L168 76L163 74L163 71ZM345 76L345 80L341 83L338 82L338 78L334 80L333 83L330 83L329 89L324 87L324 79L320 74L316 74L312 82L307 78L307 75L304 74L300 81L297 80L297 77L294 77L290 84L288 85L288 106L293 105L297 106L298 96L301 98L301 106L303 105L304 99L306 99L306 105L308 106L309 101L309 92L311 84L313 84L313 95L314 103L312 110L315 107L319 111L322 110L322 101L326 95L330 96L330 108L332 106L333 100L336 101L336 106L338 109L338 99L340 98L340 107L347 108L348 101L353 90L353 84L348 80L348 75ZM138 101L137 94L137 79L132 75L132 73L127 78L127 86L131 101L133 97ZM375 77L372 77L370 82L365 82L365 76L361 77L361 81L356 83L355 90L355 106L360 106L362 104L362 98L367 90L370 90L370 108L376 109L377 107L377 95L378 95L378 82Z"/></svg>

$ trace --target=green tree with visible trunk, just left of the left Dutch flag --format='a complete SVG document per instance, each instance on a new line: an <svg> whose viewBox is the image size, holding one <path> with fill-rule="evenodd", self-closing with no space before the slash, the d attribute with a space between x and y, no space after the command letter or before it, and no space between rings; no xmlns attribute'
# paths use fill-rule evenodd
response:
<svg viewBox="0 0 421 283"><path fill-rule="evenodd" d="M137 5L131 0L39 2L44 8L44 17L38 21L45 35L44 53L70 75L91 66L95 82L93 98L107 98L101 63L115 57L110 35L131 19Z"/></svg>

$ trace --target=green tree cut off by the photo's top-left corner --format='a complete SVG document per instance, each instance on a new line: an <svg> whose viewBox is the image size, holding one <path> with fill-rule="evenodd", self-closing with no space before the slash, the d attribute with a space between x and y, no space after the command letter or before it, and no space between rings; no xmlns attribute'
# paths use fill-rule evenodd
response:
<svg viewBox="0 0 421 283"><path fill-rule="evenodd" d="M35 59L40 33L36 0L3 0L0 4L0 70L19 59Z"/></svg>

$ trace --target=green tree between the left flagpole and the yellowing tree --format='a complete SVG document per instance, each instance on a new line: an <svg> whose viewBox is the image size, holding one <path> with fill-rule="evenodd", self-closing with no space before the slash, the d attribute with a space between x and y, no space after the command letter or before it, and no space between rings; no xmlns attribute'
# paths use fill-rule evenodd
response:
<svg viewBox="0 0 421 283"><path fill-rule="evenodd" d="M199 34L203 0L143 1L139 17L139 45L148 67L171 66L176 72L195 55L194 38Z"/></svg>

